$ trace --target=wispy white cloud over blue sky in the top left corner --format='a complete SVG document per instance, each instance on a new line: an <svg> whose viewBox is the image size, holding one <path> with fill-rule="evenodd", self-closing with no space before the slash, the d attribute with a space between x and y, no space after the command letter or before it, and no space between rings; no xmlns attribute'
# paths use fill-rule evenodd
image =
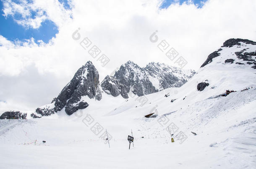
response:
<svg viewBox="0 0 256 169"><path fill-rule="evenodd" d="M69 3L71 4L70 1ZM20 0L20 3L3 0L3 6L4 16L13 17L16 23L25 28L37 29L47 19L52 20L59 27L70 20L72 15L72 11L65 10L58 0L33 0L32 3L28 3L27 0ZM33 16L33 13L36 15Z"/></svg>

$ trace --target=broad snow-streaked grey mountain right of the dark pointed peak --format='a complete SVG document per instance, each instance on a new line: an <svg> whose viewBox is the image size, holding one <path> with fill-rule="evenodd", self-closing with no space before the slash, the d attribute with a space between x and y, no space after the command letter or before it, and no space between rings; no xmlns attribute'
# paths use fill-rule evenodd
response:
<svg viewBox="0 0 256 169"><path fill-rule="evenodd" d="M195 71L182 70L164 63L151 62L141 68L132 61L123 64L114 76L106 76L101 83L103 91L112 96L128 98L128 93L144 96L170 87L180 87Z"/></svg>

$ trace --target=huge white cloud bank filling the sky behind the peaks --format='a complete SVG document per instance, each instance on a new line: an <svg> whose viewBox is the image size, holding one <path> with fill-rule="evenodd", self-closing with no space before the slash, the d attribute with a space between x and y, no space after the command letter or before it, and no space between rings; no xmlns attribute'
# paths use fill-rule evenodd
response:
<svg viewBox="0 0 256 169"><path fill-rule="evenodd" d="M51 85L56 91L48 92L47 96L53 98L88 60L98 69L101 80L128 60L139 66L146 66L151 61L176 66L157 48L157 43L149 40L155 30L158 30L159 42L165 39L188 61L185 69L198 70L206 57L229 38L256 41L255 0L209 0L203 8L193 4L175 4L164 10L159 10L160 3L158 0L74 0L71 11L65 10L57 0L35 0L35 8L46 11L47 18L59 26L59 33L50 43L40 45L30 40L22 46L0 37L0 44L3 44L0 46L0 81L6 76L21 77L29 66L34 66L38 74L31 79L48 74L55 80L44 78L45 83L38 84L32 80L30 83L42 89L46 83ZM6 13L16 8L6 8ZM26 10L23 11L28 15ZM73 20L69 19L71 14ZM33 23L34 27L39 22ZM77 28L81 28L81 39L75 41L71 35ZM80 46L79 42L85 37L110 58L110 63L102 67ZM11 83L10 79L8 83ZM22 87L22 84L16 86ZM46 94L44 99L31 96L40 96L46 91L46 87L45 90L32 88L27 96L19 90L10 90L12 97L5 93L0 95L0 100L8 98L9 102L20 103L21 98L15 96L21 94L23 100L33 105L31 107L42 106L49 103Z"/></svg>

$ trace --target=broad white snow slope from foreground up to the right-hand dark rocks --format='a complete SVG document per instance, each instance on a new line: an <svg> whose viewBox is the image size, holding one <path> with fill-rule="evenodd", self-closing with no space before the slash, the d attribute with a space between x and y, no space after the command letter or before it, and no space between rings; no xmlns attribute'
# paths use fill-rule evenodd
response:
<svg viewBox="0 0 256 169"><path fill-rule="evenodd" d="M41 119L0 120L0 168L255 169L256 69L224 62L237 60L233 54L243 48L256 50L243 43L222 47L180 88L128 99L102 93L102 100L88 99L90 106L71 116L62 110ZM198 91L204 81L209 86ZM211 98L226 90L237 92ZM144 117L150 113L157 117ZM97 123L102 131L94 134ZM105 129L110 148L100 137ZM129 150L131 129L135 140Z"/></svg>

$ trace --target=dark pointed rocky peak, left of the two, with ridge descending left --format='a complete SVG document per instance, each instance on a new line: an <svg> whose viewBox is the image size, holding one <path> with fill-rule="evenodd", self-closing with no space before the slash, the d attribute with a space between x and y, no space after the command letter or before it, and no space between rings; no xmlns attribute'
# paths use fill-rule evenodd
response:
<svg viewBox="0 0 256 169"><path fill-rule="evenodd" d="M54 98L52 103L54 107L46 105L37 108L37 114L50 116L57 111L65 108L68 115L73 114L79 109L84 109L89 104L84 101L83 96L101 100L102 95L99 89L99 73L91 61L78 69L72 80L62 89L59 96ZM33 116L34 117L34 116Z"/></svg>

